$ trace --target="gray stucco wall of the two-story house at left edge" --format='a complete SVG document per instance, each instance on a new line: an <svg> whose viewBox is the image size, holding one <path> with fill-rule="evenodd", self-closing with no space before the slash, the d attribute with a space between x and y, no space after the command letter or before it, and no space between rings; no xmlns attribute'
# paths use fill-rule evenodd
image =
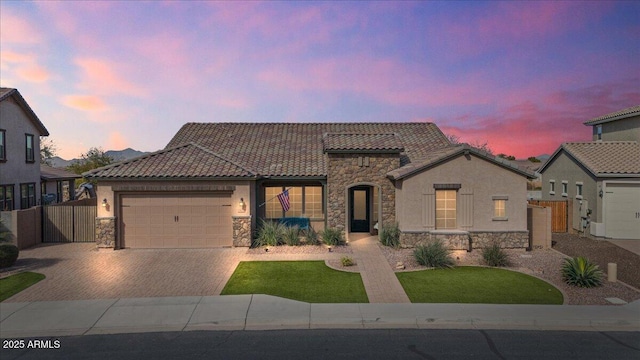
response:
<svg viewBox="0 0 640 360"><path fill-rule="evenodd" d="M35 183L36 204L40 203L40 132L22 111L8 98L0 102L0 129L6 130L7 160L0 162L0 185L14 185L14 209L20 209L20 184ZM26 162L25 134L33 135L34 162Z"/></svg>

